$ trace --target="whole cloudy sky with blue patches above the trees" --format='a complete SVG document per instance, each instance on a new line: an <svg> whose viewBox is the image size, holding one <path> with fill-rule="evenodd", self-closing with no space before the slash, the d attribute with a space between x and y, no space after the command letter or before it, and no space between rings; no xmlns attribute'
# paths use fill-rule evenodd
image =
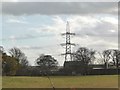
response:
<svg viewBox="0 0 120 90"><path fill-rule="evenodd" d="M5 0L7 1L7 0ZM69 21L72 42L98 51L118 48L117 2L11 2L2 3L2 45L20 48L31 65L40 54L53 55L60 63L65 42L60 34ZM42 1L42 0L41 0ZM77 1L77 0L76 0Z"/></svg>

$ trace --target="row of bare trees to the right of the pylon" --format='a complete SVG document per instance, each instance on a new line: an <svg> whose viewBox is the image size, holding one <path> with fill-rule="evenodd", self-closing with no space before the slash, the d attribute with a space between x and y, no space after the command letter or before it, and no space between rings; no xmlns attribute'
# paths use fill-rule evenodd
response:
<svg viewBox="0 0 120 90"><path fill-rule="evenodd" d="M100 53L96 50L80 47L75 52L73 60L81 61L86 65L98 62L98 64L104 64L106 69L109 65L113 65L118 68L120 65L120 50L107 49Z"/></svg>

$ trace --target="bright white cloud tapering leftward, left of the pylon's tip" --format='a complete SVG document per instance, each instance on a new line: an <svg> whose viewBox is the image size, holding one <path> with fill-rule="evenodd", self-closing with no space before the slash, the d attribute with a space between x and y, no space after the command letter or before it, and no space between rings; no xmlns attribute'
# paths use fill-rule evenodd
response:
<svg viewBox="0 0 120 90"><path fill-rule="evenodd" d="M65 32L66 21L59 16L53 16L52 24L42 25L40 27L30 28L30 30L35 31L36 33L43 34L54 34L60 35L62 32Z"/></svg>

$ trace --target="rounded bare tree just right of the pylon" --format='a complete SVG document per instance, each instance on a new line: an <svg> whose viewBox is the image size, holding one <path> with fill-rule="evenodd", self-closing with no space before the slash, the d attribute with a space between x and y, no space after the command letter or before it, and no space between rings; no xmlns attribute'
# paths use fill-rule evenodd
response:
<svg viewBox="0 0 120 90"><path fill-rule="evenodd" d="M74 61L79 61L81 74L87 74L90 70L89 64L95 59L95 51L86 47L80 47L74 55ZM77 67L75 65L75 67ZM77 68L78 69L78 68Z"/></svg>

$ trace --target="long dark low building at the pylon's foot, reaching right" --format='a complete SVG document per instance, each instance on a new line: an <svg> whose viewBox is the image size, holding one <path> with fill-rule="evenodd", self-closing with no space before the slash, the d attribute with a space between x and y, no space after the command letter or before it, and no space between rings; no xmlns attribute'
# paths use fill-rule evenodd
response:
<svg viewBox="0 0 120 90"><path fill-rule="evenodd" d="M106 69L104 64L89 64L84 66L80 61L65 61L64 69L69 70L69 74L81 74L87 75L107 75L107 74L118 74L119 70L114 65L109 65Z"/></svg>

